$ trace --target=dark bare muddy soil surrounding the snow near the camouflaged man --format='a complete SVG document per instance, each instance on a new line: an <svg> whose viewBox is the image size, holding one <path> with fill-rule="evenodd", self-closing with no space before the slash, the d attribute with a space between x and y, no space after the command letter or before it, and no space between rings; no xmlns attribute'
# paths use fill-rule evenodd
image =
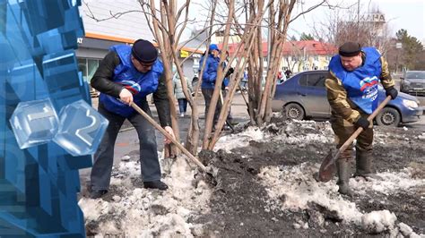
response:
<svg viewBox="0 0 425 238"><path fill-rule="evenodd" d="M277 123L277 126L265 129L286 136L288 140L250 141L246 148L232 149L231 153L224 150L201 153L200 157L209 161L210 166L218 168L218 185L212 189L209 204L211 212L194 217L189 222L204 224L202 235L220 237L388 236L389 232L369 234L359 225L342 223L332 212L321 210L320 206L314 204L302 210L282 210L268 206L267 191L258 176L263 167L281 166L284 169L284 166L297 166L306 162L311 165L319 164L328 149L334 147L332 140L291 140L293 133L302 136L321 132L326 123L314 123L313 128L306 128L301 123L291 123L291 127L294 124L296 128L291 130L287 130L287 123ZM383 127L376 127L375 132L373 156L377 172L399 171L411 166L414 168L414 176L425 176L425 140L420 139L422 132ZM327 131L324 136L333 135ZM354 172L354 163L351 166ZM425 234L424 196L425 188L421 187L391 196L372 192L344 199L355 202L365 213L388 209L395 213L398 222L410 225L416 234ZM284 200L282 197L282 201ZM324 223L317 222L317 212L325 218Z"/></svg>

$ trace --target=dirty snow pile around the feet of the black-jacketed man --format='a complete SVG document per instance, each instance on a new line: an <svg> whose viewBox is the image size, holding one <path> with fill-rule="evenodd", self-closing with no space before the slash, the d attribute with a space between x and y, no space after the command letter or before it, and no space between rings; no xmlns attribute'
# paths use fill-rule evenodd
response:
<svg viewBox="0 0 425 238"><path fill-rule="evenodd" d="M79 205L87 232L113 237L159 234L191 237L196 231L202 233L202 225L190 224L188 219L194 212L208 212L206 204L211 196L210 189L204 181L195 186L195 172L185 158L161 159L160 162L167 174L163 179L169 185L167 191L135 186L134 181L140 181L139 162L121 161L111 178L111 200L82 198Z"/></svg>

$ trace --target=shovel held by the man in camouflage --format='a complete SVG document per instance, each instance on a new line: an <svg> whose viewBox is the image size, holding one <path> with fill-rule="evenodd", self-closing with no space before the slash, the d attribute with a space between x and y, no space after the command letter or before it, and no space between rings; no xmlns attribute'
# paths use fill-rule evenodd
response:
<svg viewBox="0 0 425 238"><path fill-rule="evenodd" d="M390 100L391 96L387 96L386 99L379 106L377 106L377 109L375 109L375 111L368 116L369 123L373 122L375 116L377 116L377 114L382 110L382 108L384 108L384 106L386 106ZM329 152L329 154L322 161L322 165L320 165L319 172L317 174L317 181L328 182L332 179L336 170L336 159L340 156L341 153L343 153L345 149L351 145L352 141L356 139L361 132L363 132L363 127L359 127L356 132L352 133L351 137L346 140L345 143L343 143L343 146L338 149L334 157L332 156L332 150Z"/></svg>

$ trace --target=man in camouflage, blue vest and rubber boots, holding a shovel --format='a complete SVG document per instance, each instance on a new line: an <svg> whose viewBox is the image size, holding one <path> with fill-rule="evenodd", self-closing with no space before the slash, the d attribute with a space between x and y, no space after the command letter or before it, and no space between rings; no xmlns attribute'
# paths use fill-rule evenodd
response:
<svg viewBox="0 0 425 238"><path fill-rule="evenodd" d="M329 63L329 77L325 81L327 99L332 108L331 124L335 133L336 147L343 143L360 126L356 143L356 173L365 178L372 172L372 123L367 117L377 108L377 84L381 82L386 95L397 97L395 82L388 71L388 64L374 47L360 47L359 43L346 42L339 47ZM339 192L352 196L349 186L348 161L351 160L352 146L346 149L336 161Z"/></svg>

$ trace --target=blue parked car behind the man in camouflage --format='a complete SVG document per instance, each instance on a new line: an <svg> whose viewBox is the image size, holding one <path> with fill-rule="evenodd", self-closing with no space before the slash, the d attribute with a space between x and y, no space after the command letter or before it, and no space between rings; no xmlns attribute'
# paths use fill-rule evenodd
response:
<svg viewBox="0 0 425 238"><path fill-rule="evenodd" d="M291 119L329 119L331 106L326 98L325 79L327 71L300 72L289 80L276 86L272 101L274 112L285 109ZM386 98L382 87L378 89L379 103ZM398 126L400 123L417 122L422 115L423 108L419 100L411 95L400 92L398 97L391 100L377 115L378 125Z"/></svg>

